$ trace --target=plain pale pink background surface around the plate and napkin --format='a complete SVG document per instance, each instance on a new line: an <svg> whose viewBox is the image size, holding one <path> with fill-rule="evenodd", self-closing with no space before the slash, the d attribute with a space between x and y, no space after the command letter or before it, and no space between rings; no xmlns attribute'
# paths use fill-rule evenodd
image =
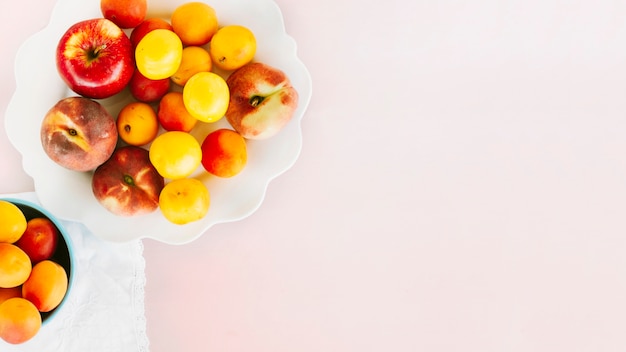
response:
<svg viewBox="0 0 626 352"><path fill-rule="evenodd" d="M276 2L302 154L249 218L144 242L151 351L623 351L626 6ZM53 5L0 5L2 121ZM33 190L0 128L0 193Z"/></svg>

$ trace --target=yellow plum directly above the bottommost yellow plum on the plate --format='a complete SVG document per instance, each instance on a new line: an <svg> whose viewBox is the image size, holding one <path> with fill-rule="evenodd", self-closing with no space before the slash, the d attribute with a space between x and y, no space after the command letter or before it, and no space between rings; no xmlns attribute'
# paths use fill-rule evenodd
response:
<svg viewBox="0 0 626 352"><path fill-rule="evenodd" d="M152 141L149 157L161 176L175 180L191 175L198 168L202 161L202 150L200 143L191 134L168 131Z"/></svg>

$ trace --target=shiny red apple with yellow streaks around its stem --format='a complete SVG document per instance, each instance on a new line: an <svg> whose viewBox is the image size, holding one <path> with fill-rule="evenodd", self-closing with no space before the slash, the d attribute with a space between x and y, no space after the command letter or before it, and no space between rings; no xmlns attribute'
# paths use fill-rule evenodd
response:
<svg viewBox="0 0 626 352"><path fill-rule="evenodd" d="M59 40L56 62L59 75L70 89L92 99L122 91L135 70L130 39L105 18L71 26Z"/></svg>

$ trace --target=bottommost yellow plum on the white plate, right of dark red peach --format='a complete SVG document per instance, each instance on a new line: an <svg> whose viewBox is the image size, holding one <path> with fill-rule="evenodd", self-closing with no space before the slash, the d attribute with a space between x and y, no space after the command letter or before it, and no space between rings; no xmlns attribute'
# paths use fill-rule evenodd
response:
<svg viewBox="0 0 626 352"><path fill-rule="evenodd" d="M208 213L210 204L209 190L195 178L171 181L159 196L163 216L177 225L202 219Z"/></svg>

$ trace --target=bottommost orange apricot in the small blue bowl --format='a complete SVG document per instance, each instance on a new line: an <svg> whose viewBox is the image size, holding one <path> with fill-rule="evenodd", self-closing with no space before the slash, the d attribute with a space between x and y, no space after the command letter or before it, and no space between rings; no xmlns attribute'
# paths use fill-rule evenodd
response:
<svg viewBox="0 0 626 352"><path fill-rule="evenodd" d="M0 338L17 345L33 338L41 329L41 314L33 303L21 297L0 304Z"/></svg>

